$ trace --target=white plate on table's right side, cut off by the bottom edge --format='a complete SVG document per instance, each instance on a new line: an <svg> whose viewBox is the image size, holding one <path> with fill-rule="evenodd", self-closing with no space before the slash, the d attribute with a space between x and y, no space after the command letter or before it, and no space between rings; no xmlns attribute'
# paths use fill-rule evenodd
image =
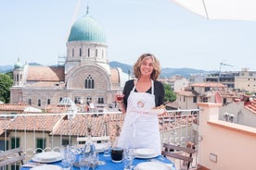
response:
<svg viewBox="0 0 256 170"><path fill-rule="evenodd" d="M154 163L154 162L144 162L137 164L134 170L169 170L164 164Z"/></svg>

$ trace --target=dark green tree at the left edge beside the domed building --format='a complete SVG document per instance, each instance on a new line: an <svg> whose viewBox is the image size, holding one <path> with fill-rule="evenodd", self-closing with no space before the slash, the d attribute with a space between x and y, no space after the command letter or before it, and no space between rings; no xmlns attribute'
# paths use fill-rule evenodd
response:
<svg viewBox="0 0 256 170"><path fill-rule="evenodd" d="M13 80L11 74L0 74L0 101L4 103L10 102L10 87L12 86Z"/></svg>

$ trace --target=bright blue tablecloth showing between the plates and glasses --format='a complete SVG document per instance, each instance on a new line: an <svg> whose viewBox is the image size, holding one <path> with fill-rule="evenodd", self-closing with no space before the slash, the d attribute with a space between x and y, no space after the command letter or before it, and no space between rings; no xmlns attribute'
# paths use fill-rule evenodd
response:
<svg viewBox="0 0 256 170"><path fill-rule="evenodd" d="M124 169L124 164L121 163L113 163L111 160L110 156L104 156L104 154L102 152L100 152L98 154L99 156L99 161L104 162L105 164L100 164L96 166L96 170L123 170ZM134 162L133 162L133 166L135 167L137 164L140 163L145 163L145 162L158 162L160 164L168 164L168 170L175 170L175 165L173 164L173 162L171 160L169 160L168 158L159 155L159 156L155 156L153 158L134 158ZM32 167L29 164L34 163L32 160L29 161L27 164L24 164L21 166L20 170L30 170L32 169ZM53 163L47 163L47 164L55 164L55 165L59 165L59 166L63 166L62 161L59 160L57 162L53 162ZM170 166L171 165L171 166ZM71 170L80 170L80 167L77 167L75 165L73 165L71 167Z"/></svg>

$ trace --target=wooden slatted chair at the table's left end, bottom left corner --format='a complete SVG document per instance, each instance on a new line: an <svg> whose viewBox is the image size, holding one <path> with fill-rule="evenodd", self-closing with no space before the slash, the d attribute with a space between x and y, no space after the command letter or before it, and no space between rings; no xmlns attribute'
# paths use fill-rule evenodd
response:
<svg viewBox="0 0 256 170"><path fill-rule="evenodd" d="M6 152L0 152L0 167L6 166L8 164L20 163L23 164L25 155L22 154L22 148L16 148L12 150L7 150Z"/></svg>

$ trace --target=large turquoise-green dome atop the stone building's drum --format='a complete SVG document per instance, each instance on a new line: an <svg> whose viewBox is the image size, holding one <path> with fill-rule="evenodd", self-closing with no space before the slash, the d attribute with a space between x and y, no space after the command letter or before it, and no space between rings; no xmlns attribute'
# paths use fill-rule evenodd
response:
<svg viewBox="0 0 256 170"><path fill-rule="evenodd" d="M75 41L106 43L105 30L94 18L86 15L72 25L69 42Z"/></svg>

